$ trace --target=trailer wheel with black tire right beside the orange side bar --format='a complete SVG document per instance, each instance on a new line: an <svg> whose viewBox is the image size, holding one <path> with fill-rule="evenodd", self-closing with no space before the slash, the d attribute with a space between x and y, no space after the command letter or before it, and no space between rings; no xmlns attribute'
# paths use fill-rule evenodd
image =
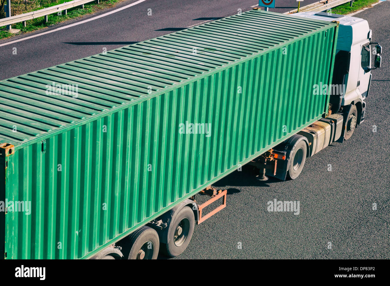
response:
<svg viewBox="0 0 390 286"><path fill-rule="evenodd" d="M168 225L168 243L161 243L161 252L170 257L181 254L190 244L194 226L195 216L190 207L183 207L183 209L174 213Z"/></svg>

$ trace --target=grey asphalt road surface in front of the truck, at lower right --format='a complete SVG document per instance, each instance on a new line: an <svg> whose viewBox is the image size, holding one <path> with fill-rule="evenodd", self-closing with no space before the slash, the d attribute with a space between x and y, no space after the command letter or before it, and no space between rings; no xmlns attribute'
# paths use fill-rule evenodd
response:
<svg viewBox="0 0 390 286"><path fill-rule="evenodd" d="M355 16L367 19L384 50L365 121L351 139L309 158L293 181L263 183L243 169L217 182L228 189L227 207L195 226L177 258L390 258L390 1ZM300 214L268 212L275 198L300 201Z"/></svg>

